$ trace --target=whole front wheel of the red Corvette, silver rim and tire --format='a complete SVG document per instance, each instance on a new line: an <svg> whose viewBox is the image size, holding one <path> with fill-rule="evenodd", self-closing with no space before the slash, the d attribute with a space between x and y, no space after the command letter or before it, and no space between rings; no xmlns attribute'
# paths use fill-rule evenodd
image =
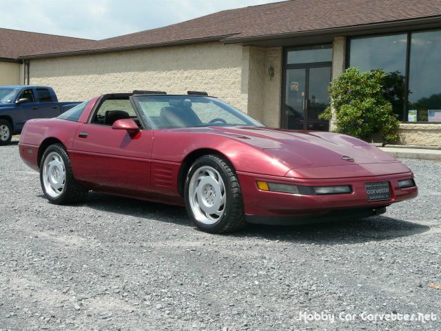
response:
<svg viewBox="0 0 441 331"><path fill-rule="evenodd" d="M245 226L236 172L217 155L194 161L185 180L184 197L189 218L201 230L223 233Z"/></svg>

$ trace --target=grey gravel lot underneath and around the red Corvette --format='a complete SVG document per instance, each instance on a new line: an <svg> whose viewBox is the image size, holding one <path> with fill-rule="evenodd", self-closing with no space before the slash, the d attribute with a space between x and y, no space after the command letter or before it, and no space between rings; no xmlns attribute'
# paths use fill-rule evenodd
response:
<svg viewBox="0 0 441 331"><path fill-rule="evenodd" d="M51 205L3 146L0 330L441 330L441 163L403 161L420 196L381 217L214 235L157 203Z"/></svg>

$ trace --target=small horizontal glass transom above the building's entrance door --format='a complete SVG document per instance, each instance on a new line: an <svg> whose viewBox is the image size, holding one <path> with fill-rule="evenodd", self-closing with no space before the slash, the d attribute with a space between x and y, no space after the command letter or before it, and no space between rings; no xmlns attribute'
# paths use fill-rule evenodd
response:
<svg viewBox="0 0 441 331"><path fill-rule="evenodd" d="M330 61L332 61L332 45L289 48L287 52L287 64Z"/></svg>

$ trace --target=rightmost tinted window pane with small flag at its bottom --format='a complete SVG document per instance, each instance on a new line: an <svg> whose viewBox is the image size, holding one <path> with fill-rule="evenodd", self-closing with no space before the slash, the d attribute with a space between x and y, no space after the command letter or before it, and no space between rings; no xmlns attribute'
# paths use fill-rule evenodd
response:
<svg viewBox="0 0 441 331"><path fill-rule="evenodd" d="M408 121L441 122L441 30L411 34Z"/></svg>

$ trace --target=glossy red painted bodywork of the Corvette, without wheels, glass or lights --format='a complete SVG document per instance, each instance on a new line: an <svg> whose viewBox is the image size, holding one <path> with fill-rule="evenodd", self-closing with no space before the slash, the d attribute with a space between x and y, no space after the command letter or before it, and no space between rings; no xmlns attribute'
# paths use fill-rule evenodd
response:
<svg viewBox="0 0 441 331"><path fill-rule="evenodd" d="M178 172L198 150L222 154L238 172L245 213L262 216L320 214L339 208L380 207L418 194L400 189L413 178L405 165L364 141L331 132L269 128L187 128L130 133L88 123L99 98L79 122L28 121L19 143L21 158L37 170L39 146L57 139L67 148L74 177L94 190L182 205ZM80 137L88 132L88 137ZM32 152L29 152L32 150ZM345 161L342 156L353 158ZM258 190L256 181L297 185L352 185L352 194L299 196ZM368 202L364 183L389 181L391 201Z"/></svg>

